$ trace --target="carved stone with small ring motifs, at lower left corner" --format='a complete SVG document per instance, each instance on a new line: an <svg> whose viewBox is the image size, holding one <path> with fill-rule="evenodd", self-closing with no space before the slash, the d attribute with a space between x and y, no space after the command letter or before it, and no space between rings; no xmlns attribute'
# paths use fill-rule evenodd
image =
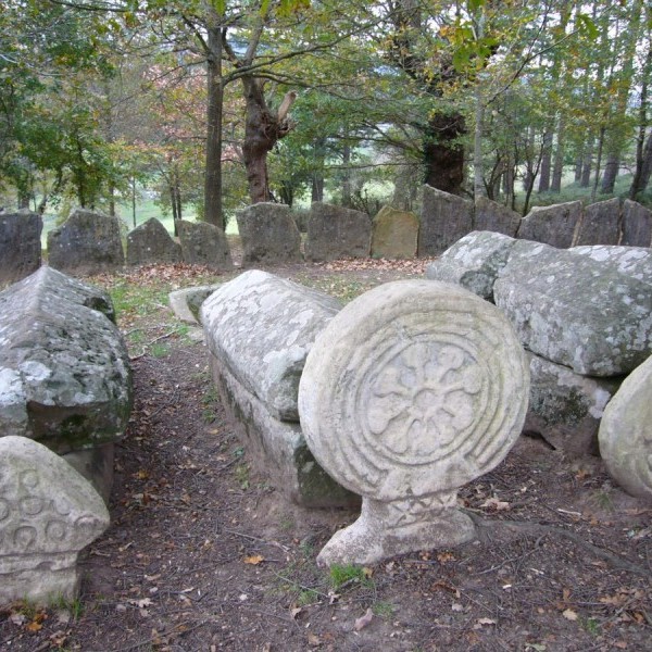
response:
<svg viewBox="0 0 652 652"><path fill-rule="evenodd" d="M109 526L92 486L23 437L0 437L0 603L74 600L77 556Z"/></svg>

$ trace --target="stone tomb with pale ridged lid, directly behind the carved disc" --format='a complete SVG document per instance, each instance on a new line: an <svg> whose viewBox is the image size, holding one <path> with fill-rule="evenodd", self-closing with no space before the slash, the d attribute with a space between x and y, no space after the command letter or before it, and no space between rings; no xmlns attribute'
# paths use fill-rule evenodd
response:
<svg viewBox="0 0 652 652"><path fill-rule="evenodd" d="M305 356L339 309L327 294L255 269L201 309L213 379L236 432L261 473L308 507L360 503L316 464L297 423Z"/></svg>

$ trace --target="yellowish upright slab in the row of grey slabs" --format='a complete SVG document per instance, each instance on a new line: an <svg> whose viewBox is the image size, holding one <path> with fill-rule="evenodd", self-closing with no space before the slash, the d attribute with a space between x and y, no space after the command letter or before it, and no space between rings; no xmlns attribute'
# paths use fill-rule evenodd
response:
<svg viewBox="0 0 652 652"><path fill-rule="evenodd" d="M417 237L418 217L414 213L384 206L372 223L372 256L414 258Z"/></svg>

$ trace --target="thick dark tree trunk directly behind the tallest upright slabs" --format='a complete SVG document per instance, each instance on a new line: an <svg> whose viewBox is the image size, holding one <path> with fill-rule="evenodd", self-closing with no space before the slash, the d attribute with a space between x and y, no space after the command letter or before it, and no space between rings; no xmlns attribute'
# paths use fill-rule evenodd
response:
<svg viewBox="0 0 652 652"><path fill-rule="evenodd" d="M460 114L436 113L428 123L424 139L425 183L432 188L462 193L464 181L464 147L460 137L466 134Z"/></svg>

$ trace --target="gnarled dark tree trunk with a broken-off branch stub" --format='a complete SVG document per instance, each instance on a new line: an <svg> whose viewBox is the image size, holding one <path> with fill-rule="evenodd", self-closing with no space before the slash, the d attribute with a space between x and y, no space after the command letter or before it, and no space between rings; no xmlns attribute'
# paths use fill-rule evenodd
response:
<svg viewBox="0 0 652 652"><path fill-rule="evenodd" d="M267 153L292 128L287 114L297 93L286 93L278 113L274 113L265 101L262 79L251 75L243 75L241 79L247 111L242 158L251 203L260 203L272 200L267 179Z"/></svg>

